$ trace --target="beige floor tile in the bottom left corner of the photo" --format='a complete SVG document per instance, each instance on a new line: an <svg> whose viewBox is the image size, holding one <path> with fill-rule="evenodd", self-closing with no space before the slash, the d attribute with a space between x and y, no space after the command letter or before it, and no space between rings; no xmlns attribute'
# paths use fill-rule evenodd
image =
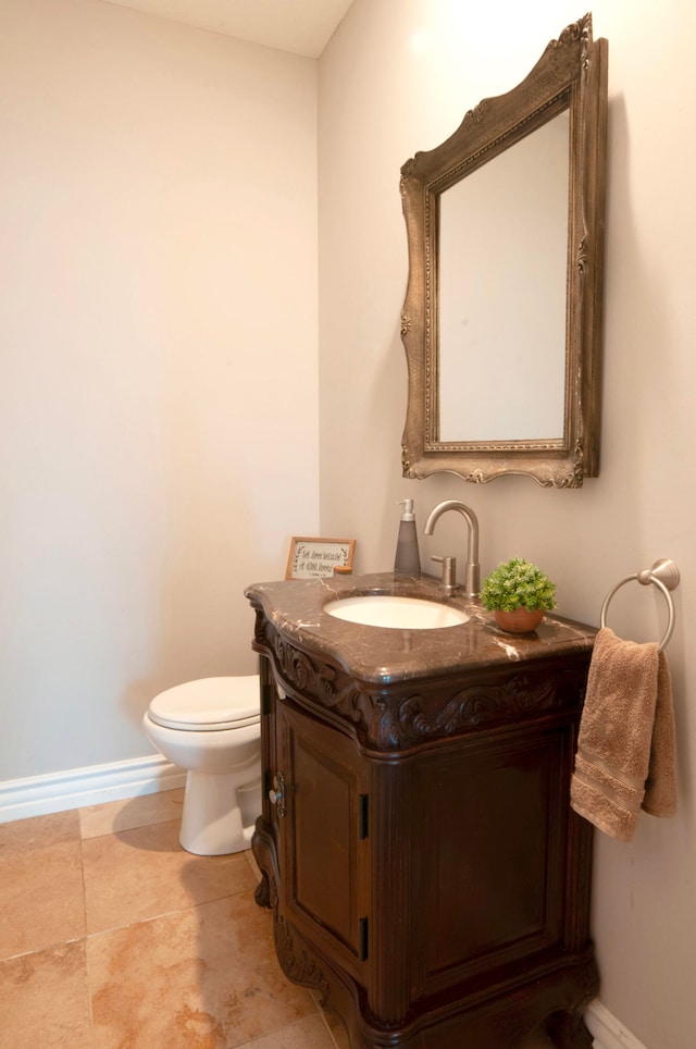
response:
<svg viewBox="0 0 696 1049"><path fill-rule="evenodd" d="M85 941L0 962L0 1049L91 1049Z"/></svg>

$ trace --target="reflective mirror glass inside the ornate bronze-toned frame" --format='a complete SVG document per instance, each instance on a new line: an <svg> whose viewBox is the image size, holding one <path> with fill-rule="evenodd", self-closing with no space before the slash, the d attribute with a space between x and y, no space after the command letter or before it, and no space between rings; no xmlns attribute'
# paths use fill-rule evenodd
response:
<svg viewBox="0 0 696 1049"><path fill-rule="evenodd" d="M440 441L563 436L569 124L560 113L442 195Z"/></svg>

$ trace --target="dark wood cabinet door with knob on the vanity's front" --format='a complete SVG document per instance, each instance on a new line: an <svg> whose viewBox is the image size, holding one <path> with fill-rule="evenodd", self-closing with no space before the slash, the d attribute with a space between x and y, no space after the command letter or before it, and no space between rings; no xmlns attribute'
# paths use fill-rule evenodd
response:
<svg viewBox="0 0 696 1049"><path fill-rule="evenodd" d="M356 972L368 955L369 794L356 743L293 707L276 706L285 780L281 839L287 917Z"/></svg>

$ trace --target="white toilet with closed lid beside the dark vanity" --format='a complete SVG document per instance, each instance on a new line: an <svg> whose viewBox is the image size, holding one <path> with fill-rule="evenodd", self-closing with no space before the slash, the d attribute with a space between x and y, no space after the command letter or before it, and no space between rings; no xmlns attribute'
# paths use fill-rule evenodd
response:
<svg viewBox="0 0 696 1049"><path fill-rule="evenodd" d="M248 849L261 814L259 675L201 678L160 692L142 728L160 754L187 772L184 849L199 856Z"/></svg>

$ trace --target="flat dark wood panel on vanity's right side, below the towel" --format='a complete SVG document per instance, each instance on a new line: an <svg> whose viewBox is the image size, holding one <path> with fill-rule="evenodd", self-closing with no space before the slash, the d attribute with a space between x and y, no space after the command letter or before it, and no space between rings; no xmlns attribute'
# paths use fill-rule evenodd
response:
<svg viewBox="0 0 696 1049"><path fill-rule="evenodd" d="M472 746L424 769L426 978L473 976L560 940L564 749L554 731Z"/></svg>

